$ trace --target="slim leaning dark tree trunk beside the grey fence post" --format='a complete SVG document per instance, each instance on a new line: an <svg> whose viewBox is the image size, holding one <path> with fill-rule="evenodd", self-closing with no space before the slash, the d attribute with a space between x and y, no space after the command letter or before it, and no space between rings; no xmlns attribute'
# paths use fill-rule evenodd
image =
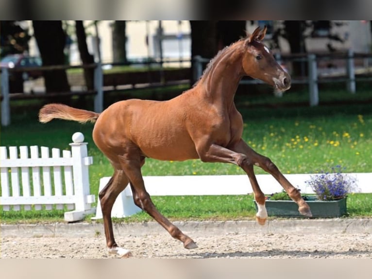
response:
<svg viewBox="0 0 372 279"><path fill-rule="evenodd" d="M75 21L76 37L78 40L78 48L80 52L80 59L83 65L93 64L94 57L88 52L88 46L86 45L85 28L82 20ZM94 68L84 69L85 84L88 90L94 88Z"/></svg>

